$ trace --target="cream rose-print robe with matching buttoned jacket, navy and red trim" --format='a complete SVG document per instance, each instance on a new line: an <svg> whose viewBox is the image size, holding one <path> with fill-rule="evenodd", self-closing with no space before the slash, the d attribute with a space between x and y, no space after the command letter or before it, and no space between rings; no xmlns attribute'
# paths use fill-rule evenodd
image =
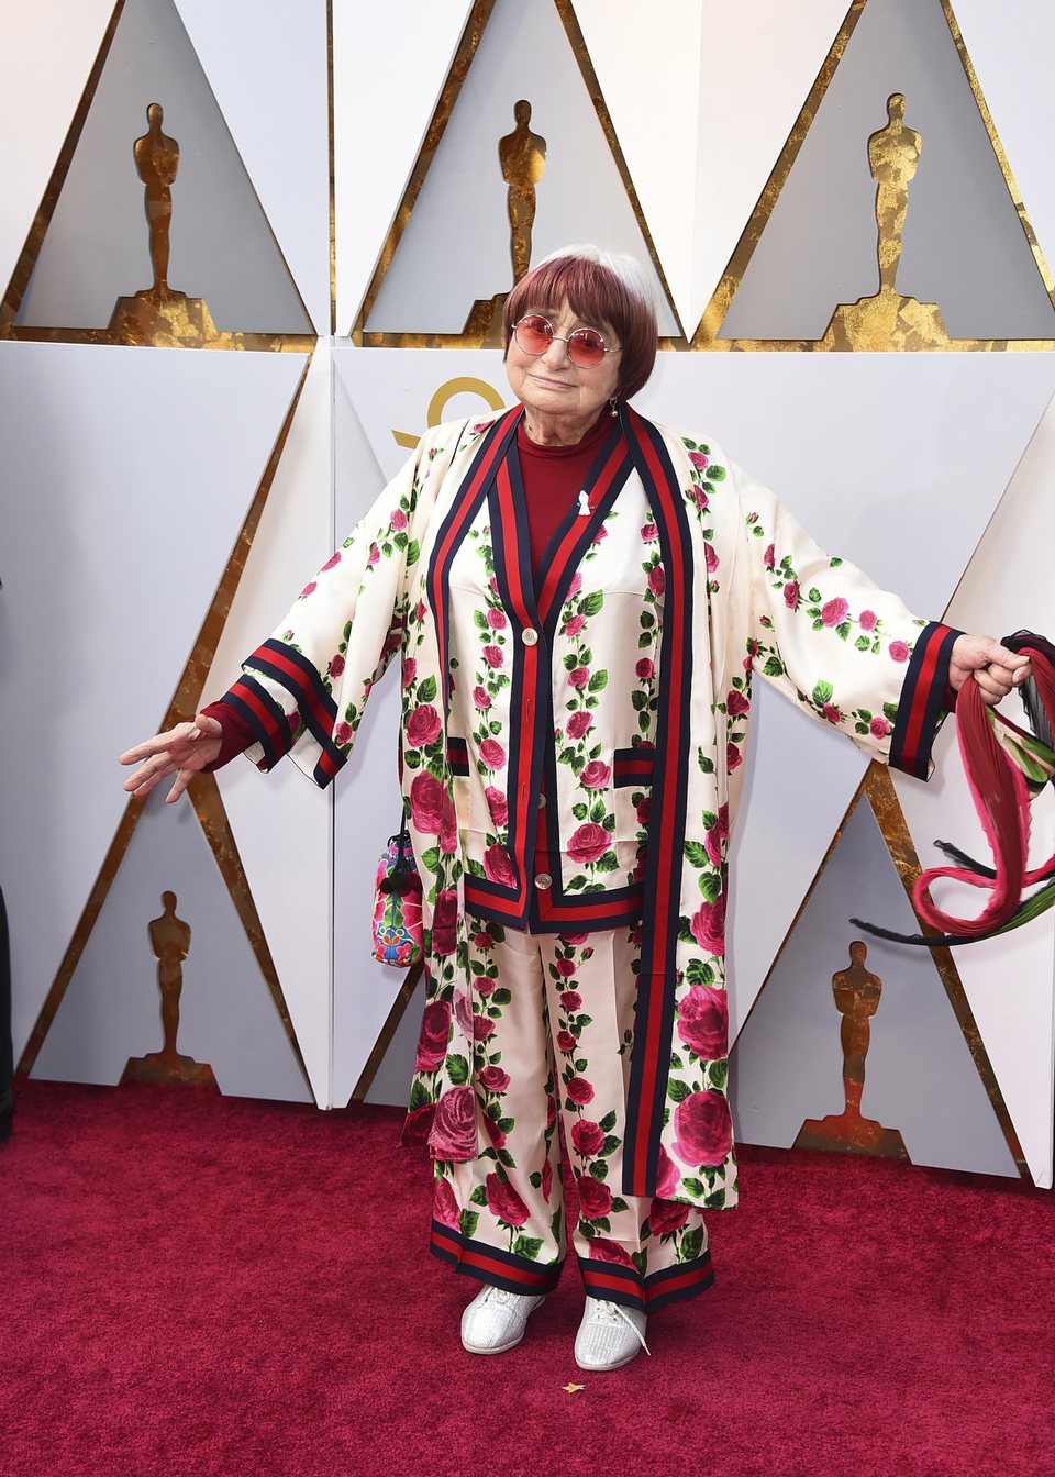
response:
<svg viewBox="0 0 1055 1477"><path fill-rule="evenodd" d="M427 1001L446 1006L427 1012L403 1142L501 1159L473 1092L486 1058L454 1009L471 990L473 919L569 933L637 922L622 1193L656 1192L662 1145L666 1198L728 1207L725 1046L700 1058L674 1027L725 984L752 676L926 777L957 632L829 558L714 443L629 408L532 579L522 414L429 431L226 700L262 770L288 752L327 786L400 654Z"/></svg>

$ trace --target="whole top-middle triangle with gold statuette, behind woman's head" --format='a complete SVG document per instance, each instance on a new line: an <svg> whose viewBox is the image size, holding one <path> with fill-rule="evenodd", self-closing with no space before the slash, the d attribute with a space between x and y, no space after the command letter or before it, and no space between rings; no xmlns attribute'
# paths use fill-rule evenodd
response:
<svg viewBox="0 0 1055 1477"><path fill-rule="evenodd" d="M634 253L680 334L570 4L480 0L355 337L494 347L528 261L573 241Z"/></svg>

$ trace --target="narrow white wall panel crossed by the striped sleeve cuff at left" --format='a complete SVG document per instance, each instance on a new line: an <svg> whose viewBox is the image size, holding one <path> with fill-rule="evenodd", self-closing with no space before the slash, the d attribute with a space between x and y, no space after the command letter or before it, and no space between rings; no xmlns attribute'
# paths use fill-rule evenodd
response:
<svg viewBox="0 0 1055 1477"><path fill-rule="evenodd" d="M307 371L245 572L216 648L205 702L222 697L330 557L330 350ZM330 795L294 764L262 775L238 759L217 775L316 1100L330 1103Z"/></svg>

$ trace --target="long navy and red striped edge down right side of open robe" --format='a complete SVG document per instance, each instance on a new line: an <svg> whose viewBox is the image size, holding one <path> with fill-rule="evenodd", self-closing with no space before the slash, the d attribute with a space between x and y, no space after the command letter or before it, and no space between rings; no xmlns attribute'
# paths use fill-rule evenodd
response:
<svg viewBox="0 0 1055 1477"><path fill-rule="evenodd" d="M629 440L659 530L665 572L656 755L644 894L634 1056L626 1097L624 1195L655 1195L659 1139L669 1075L680 929L681 857L686 839L693 678L693 545L686 501L663 439L625 406Z"/></svg>

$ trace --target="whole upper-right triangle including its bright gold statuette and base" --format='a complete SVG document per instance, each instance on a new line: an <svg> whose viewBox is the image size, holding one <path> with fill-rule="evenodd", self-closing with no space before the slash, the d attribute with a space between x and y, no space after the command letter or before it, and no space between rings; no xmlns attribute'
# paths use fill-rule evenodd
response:
<svg viewBox="0 0 1055 1477"><path fill-rule="evenodd" d="M952 6L860 9L767 201L720 341L882 350L1052 340L1046 269L957 40Z"/></svg>

